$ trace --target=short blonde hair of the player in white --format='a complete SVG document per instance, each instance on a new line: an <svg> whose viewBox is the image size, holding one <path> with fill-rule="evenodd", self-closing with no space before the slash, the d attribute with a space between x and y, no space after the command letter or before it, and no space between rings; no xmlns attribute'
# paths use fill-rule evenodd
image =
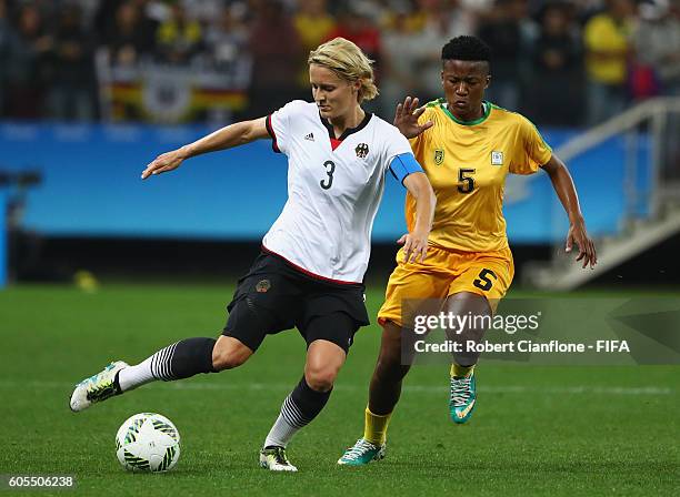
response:
<svg viewBox="0 0 680 497"><path fill-rule="evenodd" d="M330 69L339 78L353 83L360 81L359 103L378 97L378 87L373 82L373 63L359 47L344 38L333 38L317 50L309 52L309 64L317 64Z"/></svg>

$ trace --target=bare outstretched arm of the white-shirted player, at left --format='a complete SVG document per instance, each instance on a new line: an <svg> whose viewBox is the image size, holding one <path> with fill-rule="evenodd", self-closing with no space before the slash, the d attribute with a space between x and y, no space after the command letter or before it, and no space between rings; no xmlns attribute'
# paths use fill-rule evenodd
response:
<svg viewBox="0 0 680 497"><path fill-rule="evenodd" d="M171 152L157 156L147 169L142 171L142 180L156 174L176 170L186 160L202 153L217 150L231 149L232 146L250 143L254 140L267 138L267 118L252 121L242 121L224 126L193 143L181 146Z"/></svg>

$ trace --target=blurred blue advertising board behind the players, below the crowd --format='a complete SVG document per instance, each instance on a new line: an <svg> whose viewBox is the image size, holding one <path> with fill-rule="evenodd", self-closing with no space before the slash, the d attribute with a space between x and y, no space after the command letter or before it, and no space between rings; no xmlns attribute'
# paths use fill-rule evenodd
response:
<svg viewBox="0 0 680 497"><path fill-rule="evenodd" d="M140 173L158 154L210 132L207 126L0 124L0 170L36 170L24 227L58 236L258 240L287 197L286 156L268 141L187 161L148 181ZM571 131L544 131L553 146ZM649 187L649 146L640 148L639 189ZM613 138L570 162L593 235L613 234L624 215L624 142ZM373 241L393 241L406 226L404 189L391 175ZM644 202L641 210L646 209ZM504 213L512 243L551 243L567 219L543 172L508 178Z"/></svg>

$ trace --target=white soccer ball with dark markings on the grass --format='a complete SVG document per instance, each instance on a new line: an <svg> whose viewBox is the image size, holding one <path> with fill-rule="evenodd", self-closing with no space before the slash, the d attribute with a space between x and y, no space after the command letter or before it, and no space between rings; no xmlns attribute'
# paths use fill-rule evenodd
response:
<svg viewBox="0 0 680 497"><path fill-rule="evenodd" d="M136 414L116 434L116 455L130 471L168 471L177 464L179 454L179 432L160 414Z"/></svg>

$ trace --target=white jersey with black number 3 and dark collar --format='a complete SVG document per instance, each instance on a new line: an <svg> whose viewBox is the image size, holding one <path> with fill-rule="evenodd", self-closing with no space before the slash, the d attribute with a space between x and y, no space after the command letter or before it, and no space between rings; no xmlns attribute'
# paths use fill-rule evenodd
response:
<svg viewBox="0 0 680 497"><path fill-rule="evenodd" d="M408 140L369 113L336 139L316 103L301 100L269 115L267 129L274 151L288 155L288 201L264 250L312 276L361 283L386 172L411 153Z"/></svg>

